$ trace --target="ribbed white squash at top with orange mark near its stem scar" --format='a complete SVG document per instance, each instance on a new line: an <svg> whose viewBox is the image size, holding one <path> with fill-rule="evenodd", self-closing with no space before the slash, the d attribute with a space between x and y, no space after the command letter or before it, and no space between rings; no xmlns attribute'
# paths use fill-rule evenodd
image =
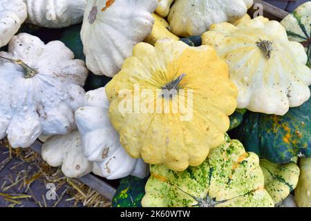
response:
<svg viewBox="0 0 311 221"><path fill-rule="evenodd" d="M95 75L113 77L133 46L152 30L157 0L89 0L81 38L86 66Z"/></svg>

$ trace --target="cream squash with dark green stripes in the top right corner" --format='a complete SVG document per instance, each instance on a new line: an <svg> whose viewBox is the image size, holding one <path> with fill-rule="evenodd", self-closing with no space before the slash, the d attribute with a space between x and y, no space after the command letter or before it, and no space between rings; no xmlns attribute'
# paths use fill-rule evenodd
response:
<svg viewBox="0 0 311 221"><path fill-rule="evenodd" d="M281 24L288 32L290 41L298 41L305 47L308 55L307 65L311 68L311 1L296 8L281 21Z"/></svg>

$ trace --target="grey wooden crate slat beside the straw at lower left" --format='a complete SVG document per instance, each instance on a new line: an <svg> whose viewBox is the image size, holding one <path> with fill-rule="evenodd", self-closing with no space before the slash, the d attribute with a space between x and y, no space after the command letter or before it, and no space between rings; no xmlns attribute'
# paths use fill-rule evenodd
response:
<svg viewBox="0 0 311 221"><path fill-rule="evenodd" d="M42 143L39 141L36 141L34 144L32 144L32 146L30 146L32 151L35 151L36 153L39 153L40 155L41 155L41 147L42 147ZM77 178L77 180L79 180L79 182L82 182L83 184L86 184L88 187L90 187L91 189L94 189L101 195L104 195L104 197L109 200L112 200L113 195L115 194L115 191L116 191L113 186L111 186L104 180L100 180L99 178L97 178L95 175L91 173L84 175L83 177L79 177Z"/></svg>

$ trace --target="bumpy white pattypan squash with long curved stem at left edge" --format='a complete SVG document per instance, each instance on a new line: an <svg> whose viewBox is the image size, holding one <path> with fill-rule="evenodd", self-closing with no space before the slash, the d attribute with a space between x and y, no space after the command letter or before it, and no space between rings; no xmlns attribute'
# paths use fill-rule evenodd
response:
<svg viewBox="0 0 311 221"><path fill-rule="evenodd" d="M75 128L74 111L84 104L84 61L61 41L44 44L21 33L0 52L0 139L13 148L30 146L41 134Z"/></svg>

